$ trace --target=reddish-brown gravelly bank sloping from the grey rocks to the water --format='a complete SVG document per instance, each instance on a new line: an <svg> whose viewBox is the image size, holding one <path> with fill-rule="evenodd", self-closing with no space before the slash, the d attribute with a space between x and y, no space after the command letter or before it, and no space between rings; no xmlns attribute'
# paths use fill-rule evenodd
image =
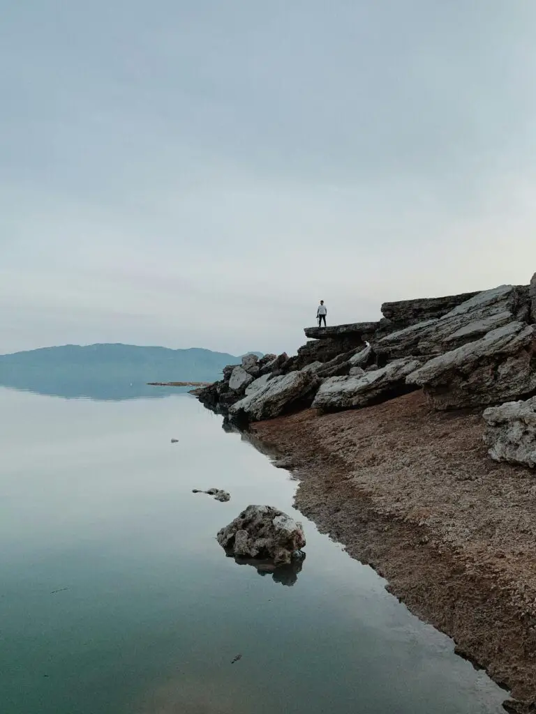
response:
<svg viewBox="0 0 536 714"><path fill-rule="evenodd" d="M300 511L534 703L536 473L493 462L483 429L481 411L437 413L421 392L253 426L289 457Z"/></svg>

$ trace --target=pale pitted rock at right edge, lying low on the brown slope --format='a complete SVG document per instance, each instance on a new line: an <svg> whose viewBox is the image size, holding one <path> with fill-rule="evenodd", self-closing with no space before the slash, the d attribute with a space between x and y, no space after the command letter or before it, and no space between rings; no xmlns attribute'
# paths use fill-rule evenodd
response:
<svg viewBox="0 0 536 714"><path fill-rule="evenodd" d="M492 459L536 466L536 397L487 408L483 416Z"/></svg>

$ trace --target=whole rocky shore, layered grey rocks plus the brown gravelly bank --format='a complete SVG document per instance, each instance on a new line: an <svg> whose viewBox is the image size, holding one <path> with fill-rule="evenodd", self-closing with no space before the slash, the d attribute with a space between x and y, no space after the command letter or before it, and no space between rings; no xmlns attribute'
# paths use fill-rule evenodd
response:
<svg viewBox="0 0 536 714"><path fill-rule="evenodd" d="M201 390L299 478L296 506L536 711L536 276L306 328ZM513 401L517 400L517 401Z"/></svg>

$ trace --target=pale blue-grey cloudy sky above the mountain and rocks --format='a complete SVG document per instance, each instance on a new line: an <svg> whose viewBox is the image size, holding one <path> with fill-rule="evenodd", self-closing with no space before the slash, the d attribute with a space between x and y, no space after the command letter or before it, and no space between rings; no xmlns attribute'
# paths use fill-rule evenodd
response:
<svg viewBox="0 0 536 714"><path fill-rule="evenodd" d="M292 353L536 271L534 0L0 0L0 353Z"/></svg>

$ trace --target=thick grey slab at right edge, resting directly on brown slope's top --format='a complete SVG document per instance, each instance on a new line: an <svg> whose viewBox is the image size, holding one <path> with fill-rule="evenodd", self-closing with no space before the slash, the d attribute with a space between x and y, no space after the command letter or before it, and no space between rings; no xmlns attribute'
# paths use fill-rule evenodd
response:
<svg viewBox="0 0 536 714"><path fill-rule="evenodd" d="M407 377L439 410L509 401L536 389L535 330L516 321L437 356Z"/></svg>

